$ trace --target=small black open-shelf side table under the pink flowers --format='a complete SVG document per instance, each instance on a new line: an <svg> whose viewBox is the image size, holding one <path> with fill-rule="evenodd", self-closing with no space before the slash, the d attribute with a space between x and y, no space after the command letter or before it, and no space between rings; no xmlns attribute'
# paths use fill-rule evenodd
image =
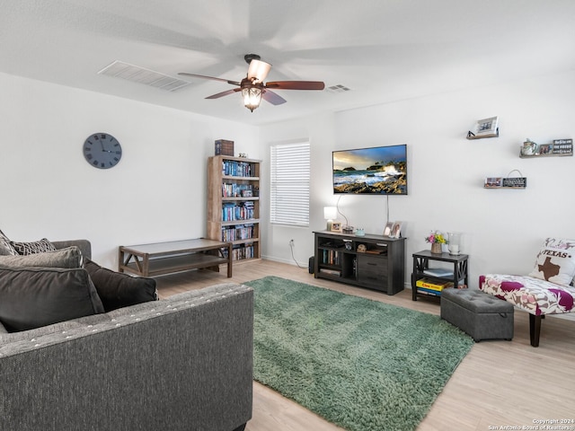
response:
<svg viewBox="0 0 575 431"><path fill-rule="evenodd" d="M429 278L430 280L435 280L439 282L450 281L453 283L454 287L457 287L462 281L464 285L467 285L467 259L469 258L466 254L449 254L449 253L432 253L429 250L419 251L413 253L413 272L411 273L411 299L417 301L417 296L441 296L441 292L438 291L437 294L430 293L426 291L418 291L417 281L421 278ZM453 265L453 271L451 274L443 275L433 275L430 272L434 272L434 268L429 268L429 261L438 262L448 262Z"/></svg>

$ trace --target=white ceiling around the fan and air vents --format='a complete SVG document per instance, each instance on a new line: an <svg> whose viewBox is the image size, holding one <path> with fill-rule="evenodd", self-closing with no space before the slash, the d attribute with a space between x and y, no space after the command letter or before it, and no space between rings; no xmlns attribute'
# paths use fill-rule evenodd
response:
<svg viewBox="0 0 575 431"><path fill-rule="evenodd" d="M0 0L0 72L265 124L575 69L573 0ZM278 91L253 112L200 79L174 92L98 75L115 60L241 81L244 54Z"/></svg>

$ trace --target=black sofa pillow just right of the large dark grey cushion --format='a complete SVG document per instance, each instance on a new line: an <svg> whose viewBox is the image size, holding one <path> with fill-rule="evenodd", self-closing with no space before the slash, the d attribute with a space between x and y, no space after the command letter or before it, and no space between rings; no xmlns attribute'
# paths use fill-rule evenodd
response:
<svg viewBox="0 0 575 431"><path fill-rule="evenodd" d="M158 299L154 278L131 277L103 268L90 259L85 259L84 268L90 274L106 312Z"/></svg>

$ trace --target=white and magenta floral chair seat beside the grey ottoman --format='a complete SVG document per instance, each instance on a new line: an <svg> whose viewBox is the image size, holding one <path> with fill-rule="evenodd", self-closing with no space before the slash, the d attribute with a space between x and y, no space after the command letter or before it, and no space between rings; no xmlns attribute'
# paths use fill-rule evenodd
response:
<svg viewBox="0 0 575 431"><path fill-rule="evenodd" d="M575 312L573 286L560 286L529 276L485 274L479 277L479 288L535 316Z"/></svg>

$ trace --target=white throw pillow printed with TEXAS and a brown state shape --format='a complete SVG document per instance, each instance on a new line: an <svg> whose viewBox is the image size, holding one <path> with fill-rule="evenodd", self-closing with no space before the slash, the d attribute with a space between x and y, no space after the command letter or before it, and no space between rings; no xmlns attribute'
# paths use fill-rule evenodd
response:
<svg viewBox="0 0 575 431"><path fill-rule="evenodd" d="M569 286L575 277L575 240L547 238L537 253L535 268L529 277Z"/></svg>

